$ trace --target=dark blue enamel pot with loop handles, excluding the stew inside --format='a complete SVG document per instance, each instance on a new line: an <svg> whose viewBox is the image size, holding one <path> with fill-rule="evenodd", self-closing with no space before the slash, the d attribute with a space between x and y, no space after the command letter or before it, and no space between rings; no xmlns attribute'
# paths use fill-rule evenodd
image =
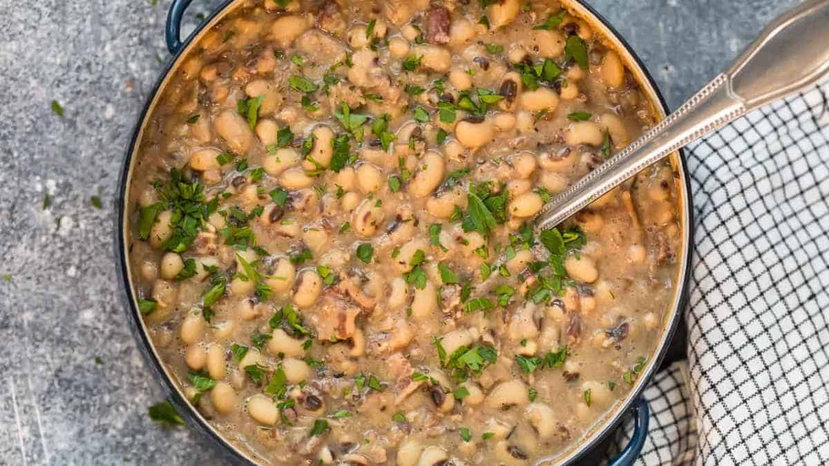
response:
<svg viewBox="0 0 829 466"><path fill-rule="evenodd" d="M162 364L161 358L153 347L151 338L148 334L148 329L143 323L142 314L138 310L136 304L137 294L133 289L130 270L128 267L128 208L131 204L129 199L129 185L133 174L133 161L135 160L135 153L138 148L138 143L143 134L143 127L146 124L148 116L152 113L152 109L158 104L158 97L162 94L160 91L171 79L174 70L182 63L182 57L187 54L187 51L196 44L201 36L204 35L210 27L219 22L221 18L235 10L235 7L240 6L244 0L227 0L220 7L216 8L207 17L196 30L191 33L184 41L180 39L182 16L191 3L192 0L173 0L170 11L167 15L167 25L165 28L165 36L167 40L167 48L172 56L167 60L162 70L161 75L153 85L153 90L148 96L147 103L144 105L142 113L138 118L138 122L133 131L133 137L130 139L128 145L126 158L124 159L124 166L122 168L121 177L119 181L119 212L117 216L117 224L114 231L116 231L115 248L119 260L120 282L124 288L123 299L125 299L125 308L128 312L128 321L133 330L133 335L138 340L138 347L141 349L143 356L146 358L148 365L153 371L153 375L158 377L161 381L165 391L167 391L168 398L172 405L176 407L182 417L187 420L187 424L191 429L197 430L206 439L209 439L211 444L216 446L225 459L230 460L234 464L255 464L255 461L250 458L248 454L237 449L233 444L230 444L220 434L214 430L207 420L198 413L192 405L187 402L186 396L181 389L173 382L172 374L167 371L167 368ZM642 65L642 61L633 52L631 47L622 36L613 29L612 26L601 17L598 12L595 12L592 7L589 7L584 0L563 0L566 6L579 13L579 16L584 18L589 23L594 31L602 34L604 38L610 42L613 48L621 56L622 60L628 66L628 69L638 80L642 88L642 92L647 95L647 98L652 104L652 109L660 119L664 119L667 114L667 105L662 99L662 95L657 90L651 75ZM648 407L647 402L642 399L642 391L650 383L653 374L657 371L665 356L671 337L675 333L677 324L681 319L681 309L686 303L688 294L688 279L690 276L691 265L691 192L690 182L687 172L687 166L684 154L682 151L674 153L670 157L670 162L676 173L679 181L679 196L677 210L682 225L681 237L681 254L677 257L679 265L677 279L676 293L673 297L671 308L667 309L667 313L663 318L662 337L657 343L657 348L653 356L647 362L634 386L628 395L628 398L613 409L608 411L603 420L599 420L594 426L593 430L585 434L584 439L579 444L575 444L569 450L561 454L557 454L555 458L547 459L548 461L555 461L557 464L576 464L579 459L583 459L585 455L589 454L591 450L595 449L599 444L602 444L608 435L618 427L621 421L629 414L633 414L635 420L635 430L633 438L630 443L624 447L622 452L616 459L613 459L609 464L611 466L625 466L633 464L638 458L642 449L645 438L647 436L647 420ZM541 459L541 464L545 463L545 459Z"/></svg>

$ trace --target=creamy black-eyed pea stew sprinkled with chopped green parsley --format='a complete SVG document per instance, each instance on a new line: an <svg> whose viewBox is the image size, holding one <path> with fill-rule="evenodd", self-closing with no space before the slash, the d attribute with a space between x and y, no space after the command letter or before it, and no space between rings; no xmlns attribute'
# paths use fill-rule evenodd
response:
<svg viewBox="0 0 829 466"><path fill-rule="evenodd" d="M662 333L676 174L531 220L654 122L556 2L244 2L148 117L139 308L192 404L263 464L555 456Z"/></svg>

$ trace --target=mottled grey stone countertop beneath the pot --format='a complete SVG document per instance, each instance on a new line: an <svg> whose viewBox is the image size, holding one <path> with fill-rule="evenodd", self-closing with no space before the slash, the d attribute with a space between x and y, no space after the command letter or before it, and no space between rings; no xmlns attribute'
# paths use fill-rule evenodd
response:
<svg viewBox="0 0 829 466"><path fill-rule="evenodd" d="M589 2L674 108L797 0ZM0 0L0 464L221 464L196 434L148 418L162 391L129 332L112 244L167 7Z"/></svg>

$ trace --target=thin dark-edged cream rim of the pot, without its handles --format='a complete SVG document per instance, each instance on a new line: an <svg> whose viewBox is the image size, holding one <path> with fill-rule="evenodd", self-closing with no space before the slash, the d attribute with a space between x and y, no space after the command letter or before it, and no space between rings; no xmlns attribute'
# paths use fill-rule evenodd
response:
<svg viewBox="0 0 829 466"><path fill-rule="evenodd" d="M659 114L661 119L664 119L668 113L667 104L653 80L652 75L648 72L640 57L633 51L633 48L624 40L623 36L611 25L608 20L599 14L593 7L591 7L587 0L560 0L566 6L569 6L582 15L584 19L590 22L591 26L598 25L602 30L600 33L606 41L612 42L614 49L621 52L623 61L626 62L628 68L637 75L638 82L642 86L642 90L651 101L652 109ZM188 1L189 3L189 1ZM232 12L234 4L240 6L242 0L225 0L220 6L211 12L191 33L187 39L182 41L182 46L172 56L170 56L164 63L158 79L153 84L148 93L147 100L143 105L143 109L139 114L136 124L133 127L132 137L129 140L126 157L121 168L119 176L119 197L118 197L118 215L115 217L116 225L114 228L114 248L118 260L119 271L119 285L123 289L123 293L119 293L120 298L124 300L126 312L128 313L128 321L133 335L138 340L138 349L143 354L144 359L149 363L153 375L161 381L162 388L167 394L167 399L177 409L180 415L187 420L188 427L195 429L200 434L211 439L214 444L221 445L220 453L225 459L230 459L234 464L257 464L252 455L244 452L224 436L219 434L210 423L187 401L187 398L181 391L181 388L173 382L174 377L172 373L167 371L167 368L158 356L153 342L151 341L147 328L143 323L142 314L136 305L136 294L134 293L133 284L130 280L130 269L128 261L128 228L126 225L128 212L128 194L129 181L132 175L133 159L138 144L139 138L143 134L143 127L146 124L150 110L153 109L154 104L159 96L159 90L162 90L163 85L171 77L171 71L180 64L182 56L186 56L190 51L191 46L196 42L196 39L205 33L210 27L214 26L216 22L222 17ZM677 289L674 294L674 300L671 305L669 313L663 318L662 337L657 343L657 347L652 352L652 357L647 361L647 366L639 374L637 381L634 383L628 396L623 402L615 405L611 410L604 414L604 418L596 421L594 428L589 430L581 437L578 444L574 444L560 454L556 454L548 459L540 459L536 464L544 463L545 461L556 461L557 464L573 464L578 459L582 458L591 449L600 444L608 435L613 433L618 425L622 422L625 414L630 412L638 399L642 396L642 392L647 388L653 374L657 371L665 357L669 343L676 333L676 328L680 319L682 318L681 310L685 308L689 298L689 283L691 277L691 254L693 251L692 232L693 232L693 210L691 209L691 179L687 169L686 156L683 149L671 156L671 163L675 171L681 173L681 180L683 189L681 189L681 221L683 235L682 248L682 262L677 269L676 283ZM666 320L667 318L667 320ZM552 463L548 463L552 464Z"/></svg>

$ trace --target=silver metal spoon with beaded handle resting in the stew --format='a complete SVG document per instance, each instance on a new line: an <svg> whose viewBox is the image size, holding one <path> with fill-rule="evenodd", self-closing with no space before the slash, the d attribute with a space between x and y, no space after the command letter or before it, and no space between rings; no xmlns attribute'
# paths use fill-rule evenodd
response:
<svg viewBox="0 0 829 466"><path fill-rule="evenodd" d="M553 197L536 231L560 224L668 154L829 71L829 0L808 0L768 25L728 70L641 138Z"/></svg>

